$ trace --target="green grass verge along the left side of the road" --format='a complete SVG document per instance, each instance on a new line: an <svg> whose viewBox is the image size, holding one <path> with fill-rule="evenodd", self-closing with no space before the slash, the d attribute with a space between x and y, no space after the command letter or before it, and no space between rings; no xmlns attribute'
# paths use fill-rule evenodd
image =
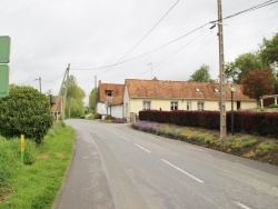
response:
<svg viewBox="0 0 278 209"><path fill-rule="evenodd" d="M0 208L51 208L72 157L75 132L56 123L37 146L26 141L24 165L19 139L0 138Z"/></svg>

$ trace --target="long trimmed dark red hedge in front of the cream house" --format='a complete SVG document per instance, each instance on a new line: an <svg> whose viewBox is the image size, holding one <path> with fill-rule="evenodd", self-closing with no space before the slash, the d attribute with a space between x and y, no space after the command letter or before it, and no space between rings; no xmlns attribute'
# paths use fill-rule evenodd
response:
<svg viewBox="0 0 278 209"><path fill-rule="evenodd" d="M143 110L139 120L173 123L206 129L220 128L219 111L158 111ZM231 112L227 112L227 130L231 130ZM234 131L250 135L278 137L278 112L234 111Z"/></svg>

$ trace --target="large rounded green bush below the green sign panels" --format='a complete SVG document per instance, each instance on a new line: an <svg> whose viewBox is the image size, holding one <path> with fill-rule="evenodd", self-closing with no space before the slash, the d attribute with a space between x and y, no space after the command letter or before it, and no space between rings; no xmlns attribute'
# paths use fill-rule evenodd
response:
<svg viewBox="0 0 278 209"><path fill-rule="evenodd" d="M48 97L32 87L12 86L0 99L0 133L7 138L24 135L40 143L52 122Z"/></svg>

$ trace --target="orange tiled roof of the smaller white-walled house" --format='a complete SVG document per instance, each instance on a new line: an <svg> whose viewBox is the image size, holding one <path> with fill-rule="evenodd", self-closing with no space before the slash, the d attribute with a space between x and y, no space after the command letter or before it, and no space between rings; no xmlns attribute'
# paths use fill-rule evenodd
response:
<svg viewBox="0 0 278 209"><path fill-rule="evenodd" d="M122 103L123 88L123 84L99 83L99 101L106 102L108 100L107 91L112 91L112 104Z"/></svg>

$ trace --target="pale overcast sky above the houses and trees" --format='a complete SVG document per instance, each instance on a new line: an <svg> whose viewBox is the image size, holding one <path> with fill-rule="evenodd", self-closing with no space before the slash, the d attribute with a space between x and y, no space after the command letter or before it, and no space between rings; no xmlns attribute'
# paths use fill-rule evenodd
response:
<svg viewBox="0 0 278 209"><path fill-rule="evenodd" d="M222 17L266 1L222 0ZM207 64L218 78L218 27L209 23L218 19L217 0L0 2L0 36L11 38L10 83L39 90L41 78L41 91L58 94L69 63L87 98L95 77L122 84L153 77L187 81ZM264 38L278 32L277 22L277 2L224 20L225 62L258 50Z"/></svg>

